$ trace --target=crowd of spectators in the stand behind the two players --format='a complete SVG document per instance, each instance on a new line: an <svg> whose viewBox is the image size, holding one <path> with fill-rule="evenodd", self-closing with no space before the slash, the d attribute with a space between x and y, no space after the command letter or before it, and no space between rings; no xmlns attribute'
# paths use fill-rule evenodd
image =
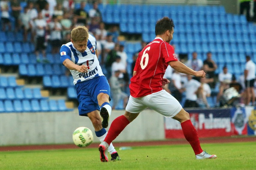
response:
<svg viewBox="0 0 256 170"><path fill-rule="evenodd" d="M30 41L35 44L37 61L47 63L47 46L51 46L51 53L58 53L62 44L70 42L70 32L75 26L86 26L90 34L97 40L99 61L103 73L111 86L112 107L115 109L119 100L123 100L124 108L129 96L130 77L132 76L138 53L141 50L134 52L133 63L131 63L128 70L127 54L124 51L124 45L118 39L118 27L116 25L108 25L109 28L106 29L106 25L102 22L102 14L98 9L100 1L81 1L80 8L75 9L75 1L73 0L64 0L62 3L57 3L56 0L30 0L26 1L27 3L23 10L20 2L20 0L2 0L0 2L2 31L22 30L24 41ZM241 13L244 12L243 5L246 6L246 4L243 3L245 2L248 3L248 1L241 1ZM93 8L87 8L87 3L93 4ZM11 13L9 12L8 4L11 4ZM248 10L248 8L246 9ZM11 17L15 19L15 28L11 28ZM255 17L252 19L255 19ZM147 43L142 42L141 49ZM175 45L172 45L175 48ZM179 58L178 54L176 54L176 57ZM190 75L181 74L170 66L167 68L164 77L169 79L171 83L163 88L180 102L185 98L184 107L209 107L207 97L211 95L217 96L216 106L221 106L223 93L230 87L235 87L241 95L246 96L244 95L245 80L243 75L235 77L228 72L229 70L227 70L226 66L223 67L223 72L215 74L217 65L216 61L212 59L211 52L207 53L204 61L197 58L196 50L193 52L191 59L184 60L184 58L180 58L179 60L193 70L204 70L206 72L206 78L198 79ZM217 90L212 91L216 87ZM249 104L250 102L243 103Z"/></svg>

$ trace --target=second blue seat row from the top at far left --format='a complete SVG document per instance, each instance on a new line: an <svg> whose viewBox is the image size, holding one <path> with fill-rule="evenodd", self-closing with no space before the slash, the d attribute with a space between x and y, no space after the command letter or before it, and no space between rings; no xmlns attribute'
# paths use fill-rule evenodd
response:
<svg viewBox="0 0 256 170"><path fill-rule="evenodd" d="M35 45L29 42L3 42L0 41L0 53L11 52L11 53L30 53L35 51Z"/></svg>

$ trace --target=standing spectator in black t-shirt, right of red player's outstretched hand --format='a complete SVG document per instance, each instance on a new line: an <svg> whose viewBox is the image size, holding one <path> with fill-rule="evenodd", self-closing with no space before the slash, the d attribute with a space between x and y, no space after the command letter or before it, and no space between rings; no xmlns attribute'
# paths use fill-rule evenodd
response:
<svg viewBox="0 0 256 170"><path fill-rule="evenodd" d="M206 72L206 83L210 85L211 88L215 88L215 70L217 69L217 65L212 60L212 52L207 52L207 58L203 61L203 70Z"/></svg>

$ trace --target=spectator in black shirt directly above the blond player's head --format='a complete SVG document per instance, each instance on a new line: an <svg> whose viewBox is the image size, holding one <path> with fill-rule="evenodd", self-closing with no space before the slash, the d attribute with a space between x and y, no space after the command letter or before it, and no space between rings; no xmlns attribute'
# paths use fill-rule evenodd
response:
<svg viewBox="0 0 256 170"><path fill-rule="evenodd" d="M87 20L89 19L88 13L84 10L86 6L86 1L81 1L80 8L75 10L74 15L77 18L77 23L79 25L87 25Z"/></svg>

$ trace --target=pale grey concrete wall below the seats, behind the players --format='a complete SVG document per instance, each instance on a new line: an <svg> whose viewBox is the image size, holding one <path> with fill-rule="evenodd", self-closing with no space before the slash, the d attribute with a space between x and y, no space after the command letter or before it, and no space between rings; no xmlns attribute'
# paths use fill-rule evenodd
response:
<svg viewBox="0 0 256 170"><path fill-rule="evenodd" d="M124 110L113 110L110 122L123 113ZM82 126L94 130L89 118L79 116L77 110L72 112L1 113L0 146L72 143L72 133L77 127ZM94 142L99 142L94 131L93 135ZM163 116L152 110L145 110L126 127L115 141L162 139L165 139Z"/></svg>

